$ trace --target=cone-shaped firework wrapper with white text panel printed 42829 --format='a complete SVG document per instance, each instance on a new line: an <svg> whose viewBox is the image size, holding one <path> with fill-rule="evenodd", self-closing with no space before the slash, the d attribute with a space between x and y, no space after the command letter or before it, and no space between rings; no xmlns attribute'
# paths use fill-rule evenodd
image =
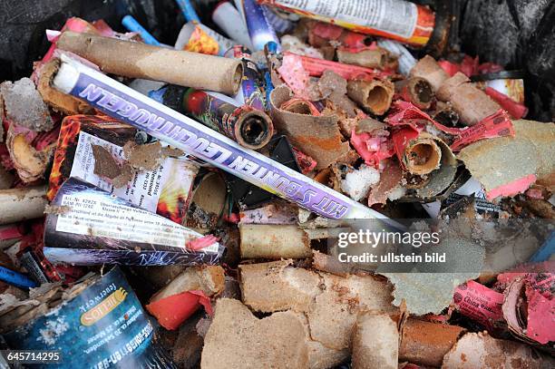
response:
<svg viewBox="0 0 555 369"><path fill-rule="evenodd" d="M199 233L82 180L66 180L52 204L70 208L46 217L44 256L54 263L214 264L223 253L218 242L197 249Z"/></svg>

